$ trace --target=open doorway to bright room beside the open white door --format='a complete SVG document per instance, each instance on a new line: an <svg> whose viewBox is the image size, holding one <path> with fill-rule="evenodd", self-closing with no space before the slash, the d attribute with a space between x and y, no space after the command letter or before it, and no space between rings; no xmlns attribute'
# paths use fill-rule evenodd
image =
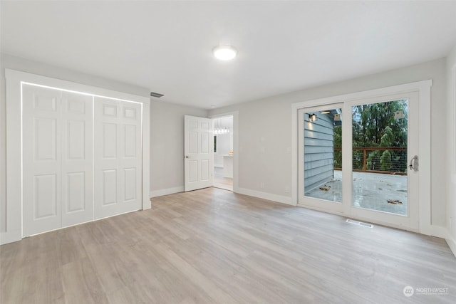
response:
<svg viewBox="0 0 456 304"><path fill-rule="evenodd" d="M212 119L214 141L213 187L233 191L234 177L233 115Z"/></svg>

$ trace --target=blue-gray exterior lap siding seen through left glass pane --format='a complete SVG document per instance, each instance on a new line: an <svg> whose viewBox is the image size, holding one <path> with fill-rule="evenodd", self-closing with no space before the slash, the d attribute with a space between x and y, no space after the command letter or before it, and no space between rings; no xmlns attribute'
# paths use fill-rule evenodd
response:
<svg viewBox="0 0 456 304"><path fill-rule="evenodd" d="M333 178L333 117L315 114L315 122L309 122L309 114L304 114L304 192Z"/></svg>

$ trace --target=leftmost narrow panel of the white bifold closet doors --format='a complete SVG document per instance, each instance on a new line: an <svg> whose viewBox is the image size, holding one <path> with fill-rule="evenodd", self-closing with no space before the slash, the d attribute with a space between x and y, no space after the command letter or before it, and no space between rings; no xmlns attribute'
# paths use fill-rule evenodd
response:
<svg viewBox="0 0 456 304"><path fill-rule="evenodd" d="M23 85L24 236L58 229L61 216L61 91Z"/></svg>

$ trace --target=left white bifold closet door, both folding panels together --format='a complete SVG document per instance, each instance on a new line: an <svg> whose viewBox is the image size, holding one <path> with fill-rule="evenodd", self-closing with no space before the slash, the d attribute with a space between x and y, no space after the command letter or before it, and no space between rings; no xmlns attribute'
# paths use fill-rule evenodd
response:
<svg viewBox="0 0 456 304"><path fill-rule="evenodd" d="M23 85L24 236L93 219L92 97Z"/></svg>

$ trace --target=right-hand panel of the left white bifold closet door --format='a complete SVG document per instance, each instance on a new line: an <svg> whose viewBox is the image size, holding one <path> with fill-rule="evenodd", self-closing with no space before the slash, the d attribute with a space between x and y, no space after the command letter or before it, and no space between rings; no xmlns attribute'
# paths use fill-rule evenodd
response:
<svg viewBox="0 0 456 304"><path fill-rule="evenodd" d="M62 92L62 226L93 220L93 96Z"/></svg>

